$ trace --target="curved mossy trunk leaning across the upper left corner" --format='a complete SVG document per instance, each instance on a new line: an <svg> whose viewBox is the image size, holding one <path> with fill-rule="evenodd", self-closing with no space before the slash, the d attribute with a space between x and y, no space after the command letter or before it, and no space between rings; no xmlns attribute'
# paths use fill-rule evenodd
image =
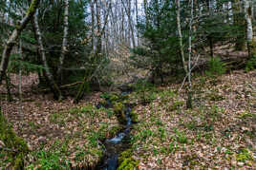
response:
<svg viewBox="0 0 256 170"><path fill-rule="evenodd" d="M16 40L20 36L22 30L26 28L27 24L32 19L32 15L35 12L39 5L39 0L32 0L30 8L27 10L25 17L21 20L20 24L17 24L15 29L11 33L11 37L9 38L2 55L2 61L0 66L0 85L2 84L2 80L4 75L6 74L6 70L9 64L11 49L15 45Z"/></svg>

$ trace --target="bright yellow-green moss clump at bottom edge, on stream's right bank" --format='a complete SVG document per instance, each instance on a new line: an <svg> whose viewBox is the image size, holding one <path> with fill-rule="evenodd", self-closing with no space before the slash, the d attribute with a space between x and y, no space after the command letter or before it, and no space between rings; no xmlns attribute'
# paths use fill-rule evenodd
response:
<svg viewBox="0 0 256 170"><path fill-rule="evenodd" d="M132 158L133 151L132 149L127 149L123 151L118 158L118 167L117 170L134 170L139 169L139 161L136 161Z"/></svg>

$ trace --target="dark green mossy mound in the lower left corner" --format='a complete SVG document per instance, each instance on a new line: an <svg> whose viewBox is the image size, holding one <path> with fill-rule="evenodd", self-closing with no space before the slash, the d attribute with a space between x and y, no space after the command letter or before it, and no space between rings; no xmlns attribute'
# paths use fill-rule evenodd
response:
<svg viewBox="0 0 256 170"><path fill-rule="evenodd" d="M11 159L13 169L23 169L24 158L30 152L30 149L22 138L16 136L1 111L0 141L4 142L7 148L14 151L8 153L8 157Z"/></svg>

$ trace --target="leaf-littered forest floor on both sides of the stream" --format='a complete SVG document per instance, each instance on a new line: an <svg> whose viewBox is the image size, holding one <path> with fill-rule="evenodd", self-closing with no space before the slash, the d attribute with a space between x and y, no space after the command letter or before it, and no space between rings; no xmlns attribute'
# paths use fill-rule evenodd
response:
<svg viewBox="0 0 256 170"><path fill-rule="evenodd" d="M17 80L11 76L13 94ZM96 108L104 94L92 93L79 104L71 98L58 103L38 93L34 74L22 80L22 104L2 95L1 105L13 130L32 149L27 164L60 169L99 161L102 140L120 128L112 108ZM193 109L186 109L181 84L137 87L126 102L137 104L131 149L139 169L256 167L256 71L194 77ZM6 94L3 86L0 92ZM10 165L3 152L0 160L0 167Z"/></svg>

